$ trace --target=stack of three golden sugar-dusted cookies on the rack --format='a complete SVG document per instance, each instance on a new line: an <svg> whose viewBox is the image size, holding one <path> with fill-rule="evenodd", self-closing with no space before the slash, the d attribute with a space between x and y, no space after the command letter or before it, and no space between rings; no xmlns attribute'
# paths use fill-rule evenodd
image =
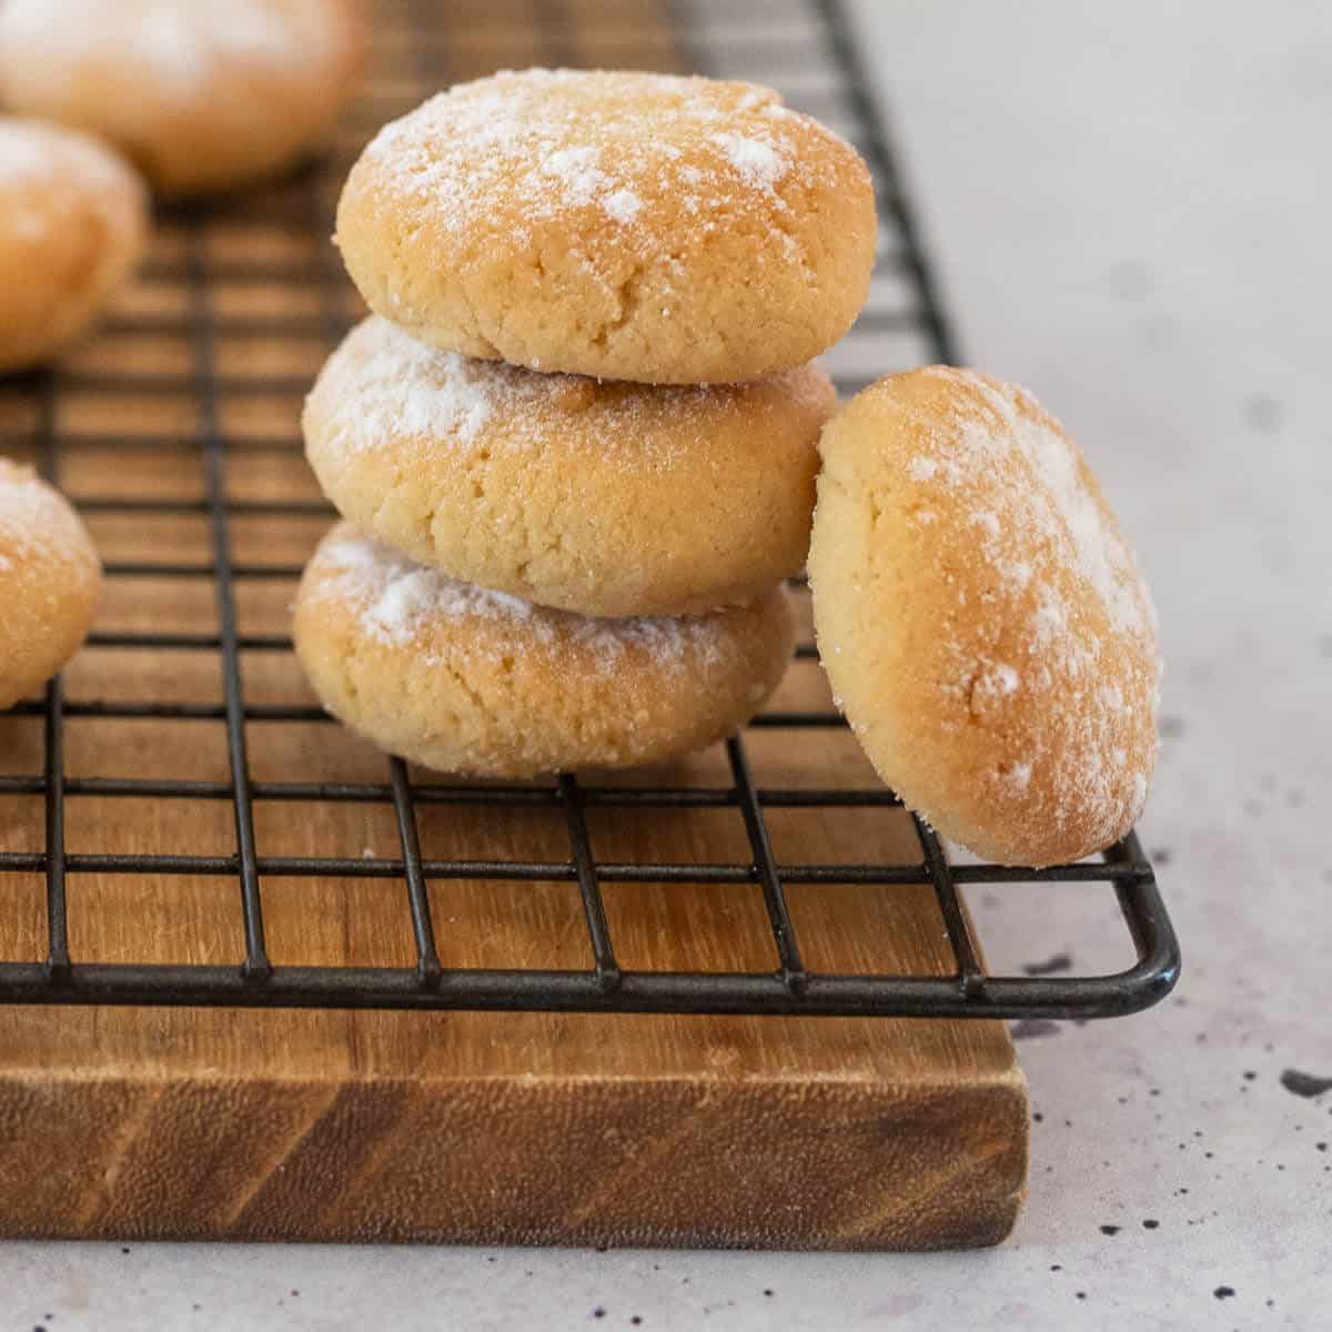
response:
<svg viewBox="0 0 1332 1332"><path fill-rule="evenodd" d="M348 519L296 611L328 707L490 777L743 723L791 653L807 362L872 264L854 149L745 84L505 72L382 131L337 238L374 314L304 421Z"/></svg>

